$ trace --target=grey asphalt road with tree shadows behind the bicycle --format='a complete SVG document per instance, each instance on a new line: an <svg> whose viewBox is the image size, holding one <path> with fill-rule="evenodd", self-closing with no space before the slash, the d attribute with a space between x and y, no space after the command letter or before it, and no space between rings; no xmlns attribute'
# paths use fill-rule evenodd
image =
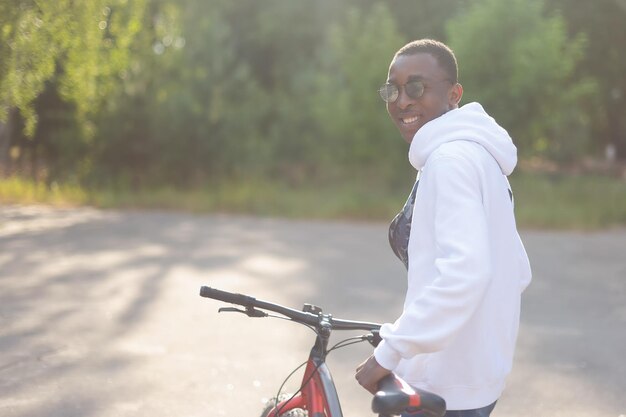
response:
<svg viewBox="0 0 626 417"><path fill-rule="evenodd" d="M218 315L200 286L392 320L405 278L386 227L2 206L0 416L258 415L313 334ZM522 237L534 281L492 415L624 417L626 230ZM373 415L353 380L370 351L329 356L346 417Z"/></svg>

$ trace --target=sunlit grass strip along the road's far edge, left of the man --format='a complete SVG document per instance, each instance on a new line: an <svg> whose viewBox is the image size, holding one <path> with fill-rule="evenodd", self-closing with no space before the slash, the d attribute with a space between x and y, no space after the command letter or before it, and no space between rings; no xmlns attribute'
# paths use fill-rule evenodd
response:
<svg viewBox="0 0 626 417"><path fill-rule="evenodd" d="M90 205L318 219L386 218L398 210L398 201L405 198L401 194L372 192L366 183L294 187L255 180L192 190L164 186L134 191L129 188L85 189L58 184L48 188L44 184L15 177L0 180L0 204Z"/></svg>

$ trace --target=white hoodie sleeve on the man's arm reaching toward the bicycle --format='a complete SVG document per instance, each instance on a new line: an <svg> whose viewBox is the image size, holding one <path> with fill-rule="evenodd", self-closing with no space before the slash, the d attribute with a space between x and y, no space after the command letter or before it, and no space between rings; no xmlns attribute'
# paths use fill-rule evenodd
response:
<svg viewBox="0 0 626 417"><path fill-rule="evenodd" d="M378 363L394 369L401 358L445 348L481 302L490 281L487 222L478 167L460 155L432 155L420 183L432 202L435 278L393 323L380 330ZM428 185L426 185L428 184ZM414 218L415 221L415 218ZM410 260L409 260L410 265ZM409 281L415 269L409 269Z"/></svg>

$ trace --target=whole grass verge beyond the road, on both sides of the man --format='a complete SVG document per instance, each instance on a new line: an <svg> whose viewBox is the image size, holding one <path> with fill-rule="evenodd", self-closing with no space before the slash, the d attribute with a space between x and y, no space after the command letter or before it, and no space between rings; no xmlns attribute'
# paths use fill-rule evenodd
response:
<svg viewBox="0 0 626 417"><path fill-rule="evenodd" d="M520 227L591 230L626 226L626 181L603 176L516 173L511 178ZM197 213L390 220L410 184L402 189L355 184L289 186L271 181L224 183L182 191L172 187L85 189L46 187L18 178L0 181L0 203L100 208L170 209Z"/></svg>

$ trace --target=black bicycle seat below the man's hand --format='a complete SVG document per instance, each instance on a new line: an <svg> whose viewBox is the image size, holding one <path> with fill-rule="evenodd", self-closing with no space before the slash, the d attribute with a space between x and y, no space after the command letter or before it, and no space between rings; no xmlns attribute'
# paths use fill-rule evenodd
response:
<svg viewBox="0 0 626 417"><path fill-rule="evenodd" d="M378 384L372 411L381 417L418 411L429 417L443 417L446 402L437 394L413 388L398 376L390 374Z"/></svg>

